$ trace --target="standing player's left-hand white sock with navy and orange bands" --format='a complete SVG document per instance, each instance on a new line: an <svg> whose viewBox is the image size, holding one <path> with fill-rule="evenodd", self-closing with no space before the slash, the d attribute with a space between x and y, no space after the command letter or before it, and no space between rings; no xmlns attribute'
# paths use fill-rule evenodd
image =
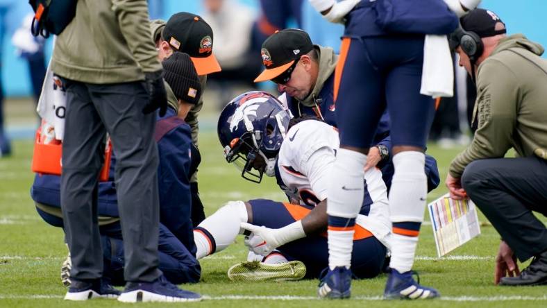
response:
<svg viewBox="0 0 547 308"><path fill-rule="evenodd" d="M364 164L367 155L339 148L332 166L327 195L328 266L351 266L355 217L364 196Z"/></svg>

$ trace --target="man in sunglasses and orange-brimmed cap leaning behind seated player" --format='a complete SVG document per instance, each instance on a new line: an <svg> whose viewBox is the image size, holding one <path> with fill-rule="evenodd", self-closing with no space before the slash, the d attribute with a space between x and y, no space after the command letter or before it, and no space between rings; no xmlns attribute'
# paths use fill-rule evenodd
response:
<svg viewBox="0 0 547 308"><path fill-rule="evenodd" d="M287 107L295 117L309 114L337 126L333 99L335 67L338 55L330 47L313 44L305 31L289 28L278 31L262 44L264 71L255 82L271 80L278 91L287 94ZM384 114L374 138L376 146L369 151L367 169L382 169L383 179L389 188L393 176L390 162L391 137L389 116ZM435 158L426 156L428 189L439 185Z"/></svg>

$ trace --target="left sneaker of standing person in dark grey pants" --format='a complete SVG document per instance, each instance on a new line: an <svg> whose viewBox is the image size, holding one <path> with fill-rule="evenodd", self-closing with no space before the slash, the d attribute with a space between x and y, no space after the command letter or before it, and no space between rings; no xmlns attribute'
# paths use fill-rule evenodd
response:
<svg viewBox="0 0 547 308"><path fill-rule="evenodd" d="M71 279L65 300L91 300L92 298L117 298L121 292L103 279Z"/></svg>

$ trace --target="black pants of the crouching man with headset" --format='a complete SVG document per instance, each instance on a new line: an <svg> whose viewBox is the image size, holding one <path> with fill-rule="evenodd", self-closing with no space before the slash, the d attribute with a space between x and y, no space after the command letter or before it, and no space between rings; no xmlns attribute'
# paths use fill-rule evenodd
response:
<svg viewBox="0 0 547 308"><path fill-rule="evenodd" d="M532 214L547 215L547 160L477 160L462 185L521 262L547 250L547 228Z"/></svg>

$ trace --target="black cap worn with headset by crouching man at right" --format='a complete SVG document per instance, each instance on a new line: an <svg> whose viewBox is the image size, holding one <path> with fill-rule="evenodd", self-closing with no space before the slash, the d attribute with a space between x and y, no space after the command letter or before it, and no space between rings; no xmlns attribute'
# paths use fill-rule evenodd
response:
<svg viewBox="0 0 547 308"><path fill-rule="evenodd" d="M490 37L507 33L505 24L501 21L500 17L491 10L482 8L471 10L471 12L460 19L460 23L465 31L477 33L479 37ZM503 24L503 29L498 26L498 30L496 30L496 24L498 23Z"/></svg>

